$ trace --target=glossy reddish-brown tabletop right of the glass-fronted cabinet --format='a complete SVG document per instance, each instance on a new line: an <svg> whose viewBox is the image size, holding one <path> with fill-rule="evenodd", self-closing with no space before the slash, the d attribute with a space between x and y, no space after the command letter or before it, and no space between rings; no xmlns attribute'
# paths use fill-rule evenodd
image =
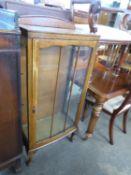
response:
<svg viewBox="0 0 131 175"><path fill-rule="evenodd" d="M101 83L99 83L101 82ZM103 98L110 99L126 91L131 83L130 75L121 72L116 76L112 71L94 70L89 89Z"/></svg>

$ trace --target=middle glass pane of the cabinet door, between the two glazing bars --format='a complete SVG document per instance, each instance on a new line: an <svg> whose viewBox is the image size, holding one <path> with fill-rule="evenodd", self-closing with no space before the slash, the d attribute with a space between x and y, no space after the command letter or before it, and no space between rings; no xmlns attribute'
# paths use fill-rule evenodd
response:
<svg viewBox="0 0 131 175"><path fill-rule="evenodd" d="M64 125L67 115L64 111L64 106L65 99L67 98L67 90L70 83L69 77L73 65L73 52L74 49L71 46L62 47L60 50L56 98L54 105L54 120L51 135L56 135L64 131ZM67 125L69 124L70 120L67 120ZM73 126L73 122L71 122L71 126Z"/></svg>

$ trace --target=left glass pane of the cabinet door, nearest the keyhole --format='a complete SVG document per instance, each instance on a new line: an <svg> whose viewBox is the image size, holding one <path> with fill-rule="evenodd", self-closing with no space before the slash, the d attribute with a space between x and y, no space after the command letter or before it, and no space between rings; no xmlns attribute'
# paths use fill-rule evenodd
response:
<svg viewBox="0 0 131 175"><path fill-rule="evenodd" d="M40 49L39 52L38 105L36 108L37 141L50 137L59 55L59 47Z"/></svg>

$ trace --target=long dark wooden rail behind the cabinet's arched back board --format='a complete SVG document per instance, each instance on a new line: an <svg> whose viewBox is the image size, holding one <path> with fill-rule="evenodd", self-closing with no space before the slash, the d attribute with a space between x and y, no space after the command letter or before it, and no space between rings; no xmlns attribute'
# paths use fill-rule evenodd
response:
<svg viewBox="0 0 131 175"><path fill-rule="evenodd" d="M15 2L11 0L3 0L0 4L9 10L17 11L19 16L23 15L43 15L46 17L54 17L62 20L70 20L71 13L69 10L62 10L53 7L40 7L37 5L31 5L24 2Z"/></svg>

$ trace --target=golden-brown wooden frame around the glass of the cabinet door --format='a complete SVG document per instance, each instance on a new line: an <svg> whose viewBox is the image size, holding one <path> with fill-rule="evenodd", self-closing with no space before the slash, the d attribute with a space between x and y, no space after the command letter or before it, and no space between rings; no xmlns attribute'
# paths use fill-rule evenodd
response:
<svg viewBox="0 0 131 175"><path fill-rule="evenodd" d="M80 40L80 39L28 39L28 138L29 149L36 150L38 147L42 147L52 143L60 138L69 135L74 132L80 120L80 114L82 113L86 91L88 88L90 76L95 63L95 53L98 40ZM81 93L80 104L77 109L74 127L67 129L66 132L53 136L49 139L45 139L40 142L36 142L36 106L37 106L37 80L38 80L38 64L39 64L39 49L49 48L53 46L87 46L92 49L92 53L88 62L88 73L85 78L84 86ZM32 51L32 53L31 53Z"/></svg>

